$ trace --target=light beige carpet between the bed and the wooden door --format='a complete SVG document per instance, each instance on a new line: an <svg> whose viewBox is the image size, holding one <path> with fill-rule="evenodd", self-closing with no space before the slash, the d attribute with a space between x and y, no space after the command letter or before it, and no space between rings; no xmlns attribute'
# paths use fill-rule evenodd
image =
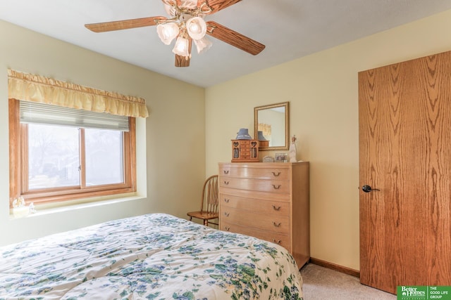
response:
<svg viewBox="0 0 451 300"><path fill-rule="evenodd" d="M394 294L360 284L359 278L308 263L301 269L304 300L396 300Z"/></svg>

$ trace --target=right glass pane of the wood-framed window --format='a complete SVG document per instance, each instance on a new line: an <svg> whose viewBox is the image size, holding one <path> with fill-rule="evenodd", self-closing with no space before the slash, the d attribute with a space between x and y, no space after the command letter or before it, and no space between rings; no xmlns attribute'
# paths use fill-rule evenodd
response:
<svg viewBox="0 0 451 300"><path fill-rule="evenodd" d="M85 129L86 185L123 183L123 133Z"/></svg>

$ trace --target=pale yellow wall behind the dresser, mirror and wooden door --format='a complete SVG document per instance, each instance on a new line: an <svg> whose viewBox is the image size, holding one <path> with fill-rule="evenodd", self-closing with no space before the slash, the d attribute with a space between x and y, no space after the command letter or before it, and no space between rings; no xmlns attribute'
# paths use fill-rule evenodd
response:
<svg viewBox="0 0 451 300"><path fill-rule="evenodd" d="M206 173L230 161L238 129L253 134L255 106L290 101L297 158L311 162L311 256L359 270L357 72L450 51L450 28L446 11L206 89Z"/></svg>

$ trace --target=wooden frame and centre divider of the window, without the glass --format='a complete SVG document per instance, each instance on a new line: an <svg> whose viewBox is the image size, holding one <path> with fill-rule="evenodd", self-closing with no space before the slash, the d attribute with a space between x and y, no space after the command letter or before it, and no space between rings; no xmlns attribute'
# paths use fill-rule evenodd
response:
<svg viewBox="0 0 451 300"><path fill-rule="evenodd" d="M27 124L20 124L19 100L10 98L8 103L9 115L9 205L13 207L13 200L23 197L25 203L43 204L49 202L64 202L80 198L100 197L123 193L136 192L136 124L135 117L129 117L130 129L123 132L123 164L124 182L119 184L97 185L87 187L85 176L80 176L80 186L65 188L47 188L28 191L28 152L27 152ZM80 130L80 161L85 166L85 147L83 145L84 130ZM82 174L85 168L82 167Z"/></svg>

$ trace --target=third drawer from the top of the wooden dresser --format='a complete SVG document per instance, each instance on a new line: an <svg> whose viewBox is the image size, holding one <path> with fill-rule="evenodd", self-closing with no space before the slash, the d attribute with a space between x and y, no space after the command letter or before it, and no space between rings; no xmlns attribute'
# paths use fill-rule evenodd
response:
<svg viewBox="0 0 451 300"><path fill-rule="evenodd" d="M221 207L224 207L224 209L226 209L226 207L230 207L266 215L271 214L273 216L290 216L289 202L252 199L227 194L220 194L219 202Z"/></svg>

